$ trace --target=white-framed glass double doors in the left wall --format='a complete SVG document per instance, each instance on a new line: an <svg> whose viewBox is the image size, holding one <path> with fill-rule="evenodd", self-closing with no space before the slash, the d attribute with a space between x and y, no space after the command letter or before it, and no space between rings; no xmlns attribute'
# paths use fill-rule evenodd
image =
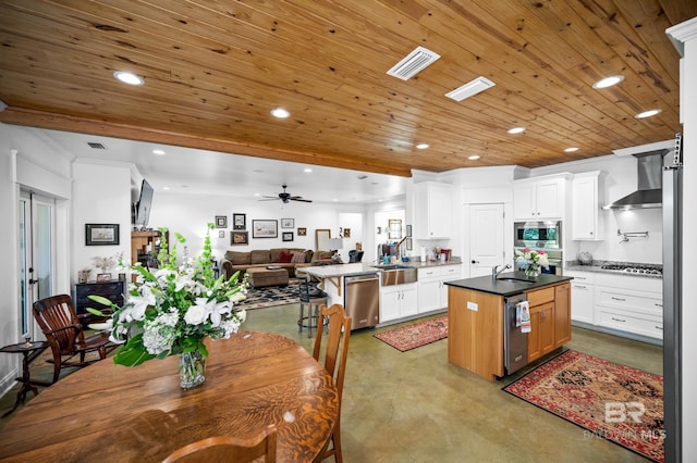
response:
<svg viewBox="0 0 697 463"><path fill-rule="evenodd" d="M32 306L53 293L54 200L22 190L19 213L20 334L37 339Z"/></svg>

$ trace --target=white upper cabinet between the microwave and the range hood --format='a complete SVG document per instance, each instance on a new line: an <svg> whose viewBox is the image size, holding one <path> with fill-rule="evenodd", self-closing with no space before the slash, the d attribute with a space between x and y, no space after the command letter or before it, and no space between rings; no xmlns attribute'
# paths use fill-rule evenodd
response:
<svg viewBox="0 0 697 463"><path fill-rule="evenodd" d="M572 182L572 239L602 240L600 171L576 174Z"/></svg>

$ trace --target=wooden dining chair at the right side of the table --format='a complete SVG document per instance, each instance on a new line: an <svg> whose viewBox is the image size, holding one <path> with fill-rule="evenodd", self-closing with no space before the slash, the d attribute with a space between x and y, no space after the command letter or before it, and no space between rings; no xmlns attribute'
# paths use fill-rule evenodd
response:
<svg viewBox="0 0 697 463"><path fill-rule="evenodd" d="M325 370L331 375L334 386L339 392L339 414L337 416L337 424L332 430L331 437L325 443L322 451L319 453L315 461L320 462L328 456L334 455L334 460L338 463L343 461L341 455L341 399L344 388L344 375L346 373L346 359L348 358L348 339L351 338L351 317L346 316L344 309L341 304L333 304L330 308L322 305L319 311L319 320L317 326L325 326L325 318L329 322L327 324L327 340L325 342ZM317 329L317 336L315 337L315 349L313 356L315 360L321 363L320 353L322 346L323 329ZM329 448L329 445L332 448Z"/></svg>

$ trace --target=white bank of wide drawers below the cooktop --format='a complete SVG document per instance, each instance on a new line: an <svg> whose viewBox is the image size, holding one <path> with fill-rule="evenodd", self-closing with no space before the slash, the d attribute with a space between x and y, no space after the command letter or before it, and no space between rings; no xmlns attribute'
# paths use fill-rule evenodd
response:
<svg viewBox="0 0 697 463"><path fill-rule="evenodd" d="M599 274L594 297L597 325L650 338L663 337L660 278Z"/></svg>

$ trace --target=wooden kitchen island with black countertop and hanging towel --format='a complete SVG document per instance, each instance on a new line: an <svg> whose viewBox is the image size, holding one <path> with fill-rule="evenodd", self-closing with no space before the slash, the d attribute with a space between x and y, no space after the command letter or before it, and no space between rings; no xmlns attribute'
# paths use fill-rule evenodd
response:
<svg viewBox="0 0 697 463"><path fill-rule="evenodd" d="M571 340L571 276L523 272L448 281L448 361L490 381ZM515 326L512 301L527 300L530 331ZM517 349L513 352L513 349ZM515 370L509 366L515 364Z"/></svg>

